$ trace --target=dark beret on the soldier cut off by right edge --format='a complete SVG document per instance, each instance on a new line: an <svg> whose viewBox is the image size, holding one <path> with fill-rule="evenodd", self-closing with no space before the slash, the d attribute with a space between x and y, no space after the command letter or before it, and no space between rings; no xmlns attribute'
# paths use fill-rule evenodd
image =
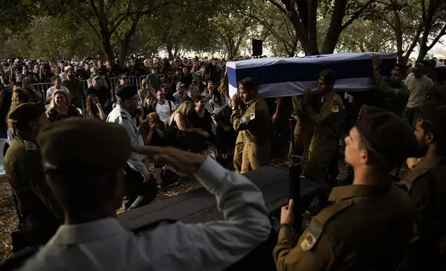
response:
<svg viewBox="0 0 446 271"><path fill-rule="evenodd" d="M441 136L446 136L446 105L426 101L422 107L421 119L435 127Z"/></svg>

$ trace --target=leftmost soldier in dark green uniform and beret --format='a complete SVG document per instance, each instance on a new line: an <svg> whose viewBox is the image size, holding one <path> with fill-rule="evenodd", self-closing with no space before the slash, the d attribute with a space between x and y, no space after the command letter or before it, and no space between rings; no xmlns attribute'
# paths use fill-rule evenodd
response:
<svg viewBox="0 0 446 271"><path fill-rule="evenodd" d="M44 106L32 102L12 109L8 122L15 138L4 158L6 176L18 200L19 216L24 219L26 245L42 245L62 223L62 209L46 183L35 145L37 135L50 122Z"/></svg>

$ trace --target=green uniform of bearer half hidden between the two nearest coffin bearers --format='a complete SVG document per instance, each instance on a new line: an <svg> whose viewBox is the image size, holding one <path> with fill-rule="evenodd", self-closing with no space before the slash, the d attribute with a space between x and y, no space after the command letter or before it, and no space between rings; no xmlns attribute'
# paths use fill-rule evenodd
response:
<svg viewBox="0 0 446 271"><path fill-rule="evenodd" d="M296 127L294 127L294 152L296 155L308 160L308 152L310 150L311 139L313 137L313 122L307 113L303 111L303 95L296 95L292 97L293 99L293 109L294 113L298 115L298 120L296 122ZM292 148L291 143L289 146L289 154L291 157Z"/></svg>

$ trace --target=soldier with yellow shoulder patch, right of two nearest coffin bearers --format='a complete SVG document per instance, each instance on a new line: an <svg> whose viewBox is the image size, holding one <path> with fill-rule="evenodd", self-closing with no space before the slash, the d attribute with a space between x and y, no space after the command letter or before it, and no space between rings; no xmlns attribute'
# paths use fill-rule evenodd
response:
<svg viewBox="0 0 446 271"><path fill-rule="evenodd" d="M319 183L328 182L327 169L339 145L344 119L344 103L342 98L334 92L336 81L337 75L333 70L321 71L317 76L321 100L316 102L319 104L320 113L317 113L317 107L311 104L316 95L305 91L303 96L303 110L314 124L314 135L303 174L305 178ZM336 178L336 176L331 177Z"/></svg>

